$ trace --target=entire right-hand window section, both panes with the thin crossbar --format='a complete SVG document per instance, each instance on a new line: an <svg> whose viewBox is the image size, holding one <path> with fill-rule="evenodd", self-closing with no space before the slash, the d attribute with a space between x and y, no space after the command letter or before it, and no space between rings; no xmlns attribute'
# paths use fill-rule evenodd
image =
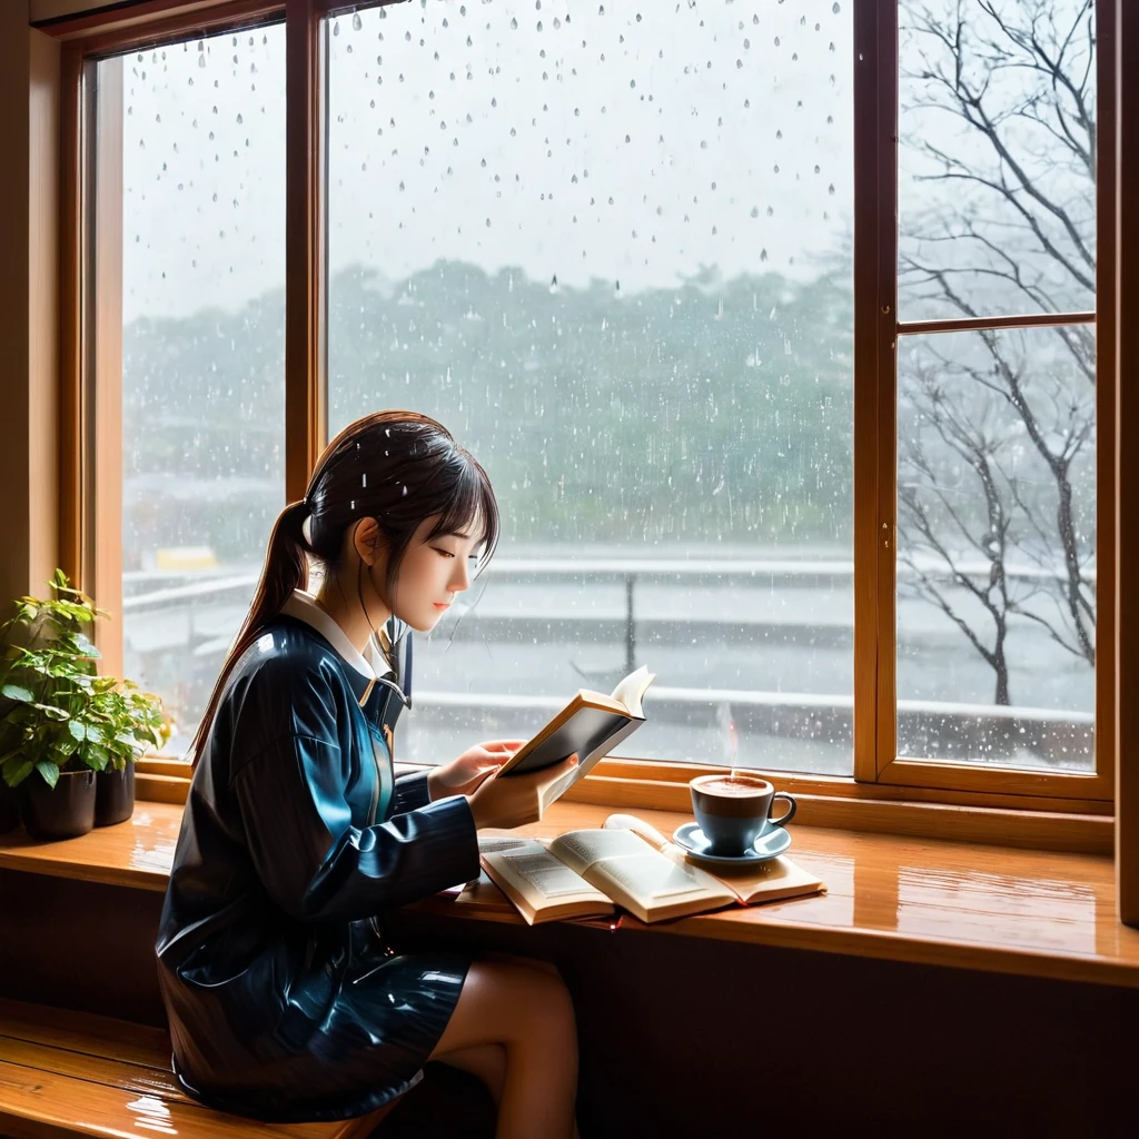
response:
<svg viewBox="0 0 1139 1139"><path fill-rule="evenodd" d="M1095 7L903 0L899 56L896 749L1093 772Z"/></svg>

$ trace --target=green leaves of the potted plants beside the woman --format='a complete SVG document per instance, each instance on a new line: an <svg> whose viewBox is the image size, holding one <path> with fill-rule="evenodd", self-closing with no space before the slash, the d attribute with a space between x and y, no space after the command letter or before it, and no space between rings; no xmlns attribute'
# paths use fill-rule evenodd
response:
<svg viewBox="0 0 1139 1139"><path fill-rule="evenodd" d="M96 672L89 637L104 616L59 571L51 600L25 597L0 626L0 770L10 786L38 772L55 787L60 771L122 770L158 741L162 705L129 680Z"/></svg>

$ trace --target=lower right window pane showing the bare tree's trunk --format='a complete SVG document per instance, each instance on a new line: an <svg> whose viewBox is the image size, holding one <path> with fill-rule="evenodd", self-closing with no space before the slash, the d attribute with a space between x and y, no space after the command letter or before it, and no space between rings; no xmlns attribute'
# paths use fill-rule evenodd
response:
<svg viewBox="0 0 1139 1139"><path fill-rule="evenodd" d="M898 751L1091 770L1090 326L899 345Z"/></svg>

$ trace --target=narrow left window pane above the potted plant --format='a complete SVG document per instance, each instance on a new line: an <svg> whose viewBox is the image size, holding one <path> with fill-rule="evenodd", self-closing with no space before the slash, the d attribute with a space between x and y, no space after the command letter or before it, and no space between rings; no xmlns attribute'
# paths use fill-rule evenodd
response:
<svg viewBox="0 0 1139 1139"><path fill-rule="evenodd" d="M285 34L98 68L122 91L123 665L181 753L284 503Z"/></svg>

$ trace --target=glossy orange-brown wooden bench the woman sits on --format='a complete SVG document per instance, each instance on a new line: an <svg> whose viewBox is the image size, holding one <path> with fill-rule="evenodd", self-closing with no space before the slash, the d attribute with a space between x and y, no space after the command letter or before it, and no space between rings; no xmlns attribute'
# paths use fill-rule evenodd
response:
<svg viewBox="0 0 1139 1139"><path fill-rule="evenodd" d="M0 1134L362 1139L388 1107L343 1123L259 1123L190 1099L161 1029L0 1000Z"/></svg>

